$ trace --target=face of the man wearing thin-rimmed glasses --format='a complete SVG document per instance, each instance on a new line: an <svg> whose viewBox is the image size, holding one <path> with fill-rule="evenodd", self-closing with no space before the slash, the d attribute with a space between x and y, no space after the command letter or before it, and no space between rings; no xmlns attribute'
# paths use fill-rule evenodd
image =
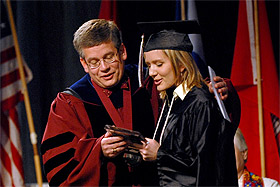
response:
<svg viewBox="0 0 280 187"><path fill-rule="evenodd" d="M118 51L113 42L103 43L98 46L83 48L85 58L80 62L86 73L102 88L111 88L117 85L124 74L124 60L127 58L125 46L122 44ZM103 59L113 58L110 63ZM99 61L100 60L100 61ZM100 62L97 68L91 68L91 62Z"/></svg>

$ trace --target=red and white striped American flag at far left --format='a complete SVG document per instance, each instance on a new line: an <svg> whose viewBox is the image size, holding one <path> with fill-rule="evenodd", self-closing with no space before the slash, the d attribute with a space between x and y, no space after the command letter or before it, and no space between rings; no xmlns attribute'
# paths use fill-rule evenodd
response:
<svg viewBox="0 0 280 187"><path fill-rule="evenodd" d="M24 63L26 81L32 73ZM17 105L22 85L6 7L1 1L1 130L0 186L24 186Z"/></svg>

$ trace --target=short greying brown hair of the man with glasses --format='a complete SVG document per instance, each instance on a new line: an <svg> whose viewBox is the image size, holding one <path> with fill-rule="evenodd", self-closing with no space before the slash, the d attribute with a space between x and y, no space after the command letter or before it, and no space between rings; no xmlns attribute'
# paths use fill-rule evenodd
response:
<svg viewBox="0 0 280 187"><path fill-rule="evenodd" d="M113 42L119 50L122 44L122 36L119 28L113 21L105 19L92 19L85 22L74 33L73 45L80 57L84 58L83 48Z"/></svg>

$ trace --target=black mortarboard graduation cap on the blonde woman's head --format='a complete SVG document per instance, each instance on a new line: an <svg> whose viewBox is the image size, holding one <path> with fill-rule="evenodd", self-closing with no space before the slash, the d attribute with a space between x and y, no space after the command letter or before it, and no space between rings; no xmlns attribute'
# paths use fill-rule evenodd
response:
<svg viewBox="0 0 280 187"><path fill-rule="evenodd" d="M200 33L196 20L138 22L145 36L150 36L144 52L155 49L173 49L192 52L193 46L188 34Z"/></svg>

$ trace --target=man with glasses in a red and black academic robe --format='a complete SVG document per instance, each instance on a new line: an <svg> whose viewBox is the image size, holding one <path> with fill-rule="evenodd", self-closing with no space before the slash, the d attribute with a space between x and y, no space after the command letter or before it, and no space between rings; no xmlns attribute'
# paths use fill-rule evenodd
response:
<svg viewBox="0 0 280 187"><path fill-rule="evenodd" d="M114 124L151 137L152 107L158 107L151 105L157 103L151 102L156 95L148 92L153 85L147 80L146 87L138 88L137 67L125 67L126 49L113 22L90 20L77 30L73 42L87 75L52 103L41 147L49 184L153 185L152 166L138 173L145 163L132 166L133 159L123 159L126 142L104 129Z"/></svg>

